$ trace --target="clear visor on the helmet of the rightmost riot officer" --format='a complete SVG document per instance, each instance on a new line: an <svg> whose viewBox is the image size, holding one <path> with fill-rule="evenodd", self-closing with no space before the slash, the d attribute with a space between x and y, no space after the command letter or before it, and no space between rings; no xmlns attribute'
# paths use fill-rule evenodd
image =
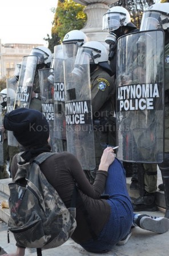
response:
<svg viewBox="0 0 169 256"><path fill-rule="evenodd" d="M154 29L162 29L162 21L160 18L160 13L155 11L147 11L143 14L142 23L140 26L140 30L154 30Z"/></svg>

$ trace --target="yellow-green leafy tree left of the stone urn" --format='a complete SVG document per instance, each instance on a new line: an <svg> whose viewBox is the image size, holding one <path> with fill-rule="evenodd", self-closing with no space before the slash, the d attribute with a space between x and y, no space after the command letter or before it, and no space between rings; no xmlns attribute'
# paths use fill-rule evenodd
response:
<svg viewBox="0 0 169 256"><path fill-rule="evenodd" d="M85 6L75 3L73 0L58 0L55 12L51 38L44 38L49 42L49 49L53 52L54 46L61 44L65 34L74 29L82 29L87 21L87 15L83 12Z"/></svg>

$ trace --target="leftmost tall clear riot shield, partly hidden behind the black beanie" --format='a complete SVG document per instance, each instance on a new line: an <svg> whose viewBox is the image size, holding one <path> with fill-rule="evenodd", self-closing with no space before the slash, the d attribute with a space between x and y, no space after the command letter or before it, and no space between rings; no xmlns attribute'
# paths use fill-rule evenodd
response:
<svg viewBox="0 0 169 256"><path fill-rule="evenodd" d="M14 82L15 81L15 82ZM17 86L18 82L17 79L7 79L6 81L6 87L7 87L7 113L13 111L14 109L14 104L15 104L15 97L17 93ZM18 141L14 137L12 131L7 131L7 143L8 145L17 147L18 146Z"/></svg>

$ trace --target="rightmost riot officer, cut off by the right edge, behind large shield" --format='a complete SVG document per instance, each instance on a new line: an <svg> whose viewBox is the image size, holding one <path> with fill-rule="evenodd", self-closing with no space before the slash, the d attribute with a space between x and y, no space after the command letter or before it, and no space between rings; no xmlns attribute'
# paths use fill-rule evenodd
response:
<svg viewBox="0 0 169 256"><path fill-rule="evenodd" d="M169 218L169 147L168 147L168 127L169 127L169 3L155 3L148 7L143 13L140 30L162 29L165 35L164 48L164 87L165 87L165 103L164 103L164 160L159 164L162 172L162 179L164 184L164 194L166 199L166 218ZM156 187L156 180L147 179L149 186Z"/></svg>

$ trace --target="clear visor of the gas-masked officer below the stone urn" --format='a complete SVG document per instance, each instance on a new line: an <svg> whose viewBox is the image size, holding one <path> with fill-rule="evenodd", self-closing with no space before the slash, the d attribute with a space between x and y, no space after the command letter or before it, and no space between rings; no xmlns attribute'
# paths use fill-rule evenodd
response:
<svg viewBox="0 0 169 256"><path fill-rule="evenodd" d="M126 19L126 14L122 13L106 13L103 15L103 31L114 31L118 29L120 26L124 25L124 21Z"/></svg>

